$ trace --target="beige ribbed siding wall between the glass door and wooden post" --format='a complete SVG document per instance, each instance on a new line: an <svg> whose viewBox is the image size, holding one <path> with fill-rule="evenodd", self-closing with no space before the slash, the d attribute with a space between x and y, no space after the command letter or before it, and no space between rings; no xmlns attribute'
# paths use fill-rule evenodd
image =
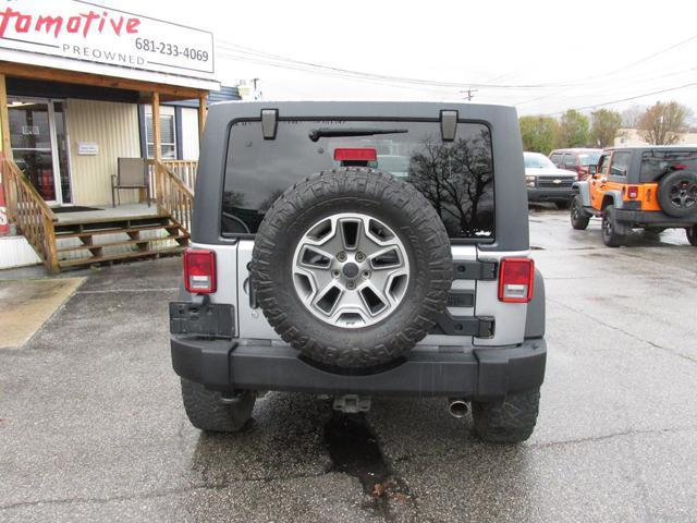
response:
<svg viewBox="0 0 697 523"><path fill-rule="evenodd" d="M117 158L140 157L138 106L68 100L68 133L73 203L110 205L111 175L117 172ZM78 155L81 142L98 144L99 154ZM121 191L121 202L137 202L137 191Z"/></svg>

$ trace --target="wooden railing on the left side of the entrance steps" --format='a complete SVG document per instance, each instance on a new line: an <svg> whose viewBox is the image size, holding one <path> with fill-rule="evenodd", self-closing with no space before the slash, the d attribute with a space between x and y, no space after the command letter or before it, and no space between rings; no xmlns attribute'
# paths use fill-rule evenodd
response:
<svg viewBox="0 0 697 523"><path fill-rule="evenodd" d="M58 272L53 212L13 159L2 158L8 218L51 272Z"/></svg>

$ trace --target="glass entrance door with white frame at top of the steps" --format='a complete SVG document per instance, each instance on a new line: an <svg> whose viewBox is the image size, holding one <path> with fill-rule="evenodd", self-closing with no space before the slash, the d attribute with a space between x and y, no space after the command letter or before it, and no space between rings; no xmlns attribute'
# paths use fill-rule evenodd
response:
<svg viewBox="0 0 697 523"><path fill-rule="evenodd" d="M49 205L71 202L64 104L11 97L8 104L14 162Z"/></svg>

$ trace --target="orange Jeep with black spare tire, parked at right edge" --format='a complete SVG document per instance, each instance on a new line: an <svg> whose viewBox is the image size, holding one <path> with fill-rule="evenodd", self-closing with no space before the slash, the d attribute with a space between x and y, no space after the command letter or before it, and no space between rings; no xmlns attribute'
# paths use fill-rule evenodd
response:
<svg viewBox="0 0 697 523"><path fill-rule="evenodd" d="M574 183L571 224L584 230L602 218L602 241L617 247L632 229L680 227L697 246L697 147L643 146L604 149L595 172Z"/></svg>

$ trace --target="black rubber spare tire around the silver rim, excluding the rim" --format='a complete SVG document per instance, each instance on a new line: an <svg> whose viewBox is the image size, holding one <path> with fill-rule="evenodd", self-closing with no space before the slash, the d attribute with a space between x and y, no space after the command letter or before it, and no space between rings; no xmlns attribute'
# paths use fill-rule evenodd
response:
<svg viewBox="0 0 697 523"><path fill-rule="evenodd" d="M355 329L315 317L290 277L303 234L338 212L383 221L400 236L409 259L400 306L383 320ZM285 342L323 366L367 369L394 362L429 332L445 308L452 271L448 232L421 193L389 173L343 168L311 175L273 203L256 235L250 275L259 306Z"/></svg>

